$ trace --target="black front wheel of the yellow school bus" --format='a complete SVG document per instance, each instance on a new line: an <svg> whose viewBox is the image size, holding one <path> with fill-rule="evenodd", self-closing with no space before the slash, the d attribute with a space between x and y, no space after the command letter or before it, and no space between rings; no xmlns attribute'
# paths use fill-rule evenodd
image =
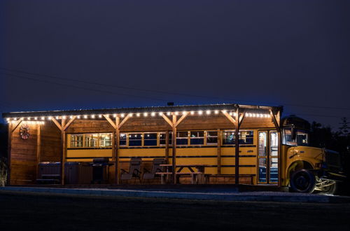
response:
<svg viewBox="0 0 350 231"><path fill-rule="evenodd" d="M295 193L312 193L316 187L316 179L307 169L297 170L290 176L290 190Z"/></svg>

